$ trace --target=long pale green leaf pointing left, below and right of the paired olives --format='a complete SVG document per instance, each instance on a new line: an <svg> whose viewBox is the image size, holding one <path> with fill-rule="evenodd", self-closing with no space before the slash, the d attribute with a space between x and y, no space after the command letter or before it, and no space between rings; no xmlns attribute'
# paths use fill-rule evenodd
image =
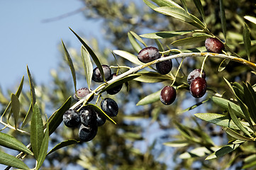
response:
<svg viewBox="0 0 256 170"><path fill-rule="evenodd" d="M237 125L230 120L227 115L217 114L217 113L196 113L194 114L197 118L205 120L208 123L213 123L224 128L231 128L235 130L240 130ZM247 123L242 122L243 126L247 126ZM250 130L252 131L252 130Z"/></svg>

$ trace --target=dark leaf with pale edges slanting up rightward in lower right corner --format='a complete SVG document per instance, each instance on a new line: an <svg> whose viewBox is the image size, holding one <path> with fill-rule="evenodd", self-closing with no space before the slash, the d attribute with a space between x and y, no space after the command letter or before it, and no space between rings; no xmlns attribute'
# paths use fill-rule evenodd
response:
<svg viewBox="0 0 256 170"><path fill-rule="evenodd" d="M225 154L233 152L233 150L237 149L239 146L239 144L232 144L221 147L221 149L218 149L216 152L213 152L208 157L206 157L206 160L215 159L217 157L223 157Z"/></svg>

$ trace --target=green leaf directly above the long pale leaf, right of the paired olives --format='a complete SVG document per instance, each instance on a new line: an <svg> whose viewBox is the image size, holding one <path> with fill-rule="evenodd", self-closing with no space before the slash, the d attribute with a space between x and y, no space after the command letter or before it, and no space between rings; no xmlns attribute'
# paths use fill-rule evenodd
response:
<svg viewBox="0 0 256 170"><path fill-rule="evenodd" d="M241 108L238 105L236 105L235 103L228 101L225 98L220 98L220 97L216 97L216 96L213 96L211 98L211 100L213 101L213 103L216 103L216 105L220 106L221 108L223 108L226 111L228 111L228 103L229 103L231 108L233 108L235 115L237 115L239 118L246 119Z"/></svg>

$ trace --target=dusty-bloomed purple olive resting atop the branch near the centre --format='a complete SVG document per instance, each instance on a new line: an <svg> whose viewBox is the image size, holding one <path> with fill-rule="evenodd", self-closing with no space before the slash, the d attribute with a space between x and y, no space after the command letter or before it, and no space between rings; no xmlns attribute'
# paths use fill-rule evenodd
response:
<svg viewBox="0 0 256 170"><path fill-rule="evenodd" d="M160 53L156 47L145 47L138 53L138 60L140 62L152 62L160 58Z"/></svg>

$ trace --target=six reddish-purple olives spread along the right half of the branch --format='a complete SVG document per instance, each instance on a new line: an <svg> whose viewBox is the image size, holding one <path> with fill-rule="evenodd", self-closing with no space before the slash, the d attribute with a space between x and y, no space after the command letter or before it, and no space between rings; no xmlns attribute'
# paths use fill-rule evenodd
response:
<svg viewBox="0 0 256 170"><path fill-rule="evenodd" d="M208 52L221 53L224 49L223 42L217 38L207 38L205 41L206 50ZM138 53L140 62L152 62L161 57L156 47L145 47ZM165 57L165 56L163 56ZM168 74L172 70L172 60L158 62L156 64L157 72L160 74ZM207 83L206 73L201 69L194 69L187 77L189 91L195 98L201 98L206 94ZM160 92L160 101L165 105L170 105L175 101L176 89L173 86L165 86Z"/></svg>

